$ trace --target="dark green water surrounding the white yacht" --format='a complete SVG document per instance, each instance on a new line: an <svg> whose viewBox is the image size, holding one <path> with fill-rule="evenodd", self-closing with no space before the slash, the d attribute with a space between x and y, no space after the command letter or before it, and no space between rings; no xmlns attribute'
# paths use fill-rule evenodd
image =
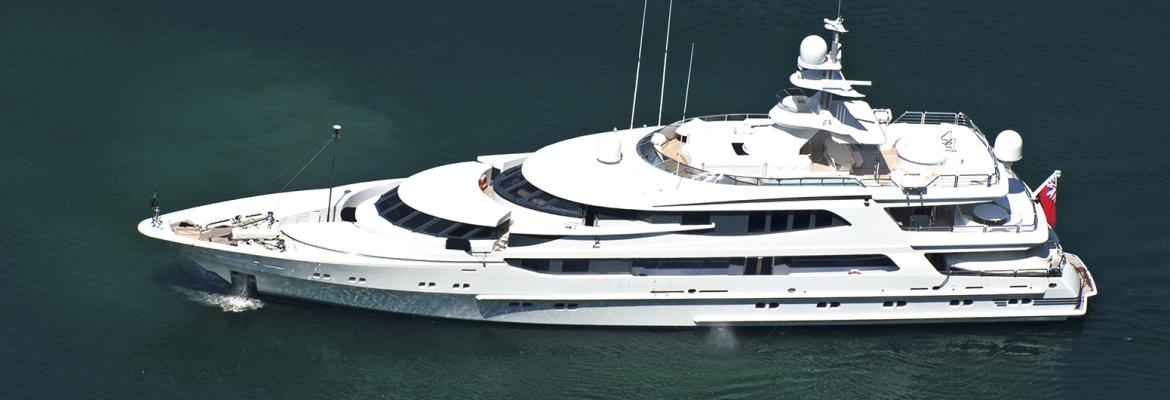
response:
<svg viewBox="0 0 1170 400"><path fill-rule="evenodd" d="M627 330L410 318L222 290L140 237L267 193L345 125L407 175L624 126L641 2L77 2L0 12L0 398L1165 398L1170 198L1161 1L846 1L846 73L875 106L1023 132L1061 168L1060 229L1101 295L1046 324ZM764 112L833 1L675 4L665 119ZM639 123L655 119L666 1ZM343 152L343 154L345 154ZM377 170L377 171L371 171ZM294 188L324 186L328 164Z"/></svg>

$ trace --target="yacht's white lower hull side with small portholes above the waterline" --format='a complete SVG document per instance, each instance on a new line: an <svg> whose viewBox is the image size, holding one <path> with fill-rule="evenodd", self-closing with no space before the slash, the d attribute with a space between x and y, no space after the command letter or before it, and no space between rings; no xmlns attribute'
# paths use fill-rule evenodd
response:
<svg viewBox="0 0 1170 400"><path fill-rule="evenodd" d="M468 274L466 264L419 265L422 268L331 265L198 247L184 249L200 267L226 281L232 281L233 271L254 276L256 290L263 295L424 317L524 324L735 326L1061 320L1083 316L1087 298L1095 294L1095 290L1082 290L1074 297L1044 298L1038 297L1034 291L985 296L945 295L943 291L932 296L907 297L883 296L880 291L856 291L849 296L815 297L778 291L756 296L688 297L676 294L639 298L646 296L611 292L553 298L472 290L457 292L459 289L453 289L447 282L468 281L464 276ZM493 274L493 269L507 270L509 267L501 264L479 268L475 274L484 275L480 275L477 281L491 280L487 275ZM1072 265L1068 269L1075 271ZM323 278L325 274L316 273L322 277L314 278L314 273L310 271L331 273L326 280ZM1087 270L1085 274L1089 280L1087 287L1092 288L1092 277L1087 275ZM351 283L349 275L360 275L371 283L413 284L419 280L439 283L435 287L425 285L421 290L388 289ZM639 280L632 276L627 278ZM1046 281L1033 280L1039 284ZM1023 298L1027 298L1028 303L1021 304ZM954 305L952 301L961 303ZM963 304L963 301L971 301L972 304ZM1009 304L1010 301L1014 304ZM889 306L890 302L894 302L893 306Z"/></svg>

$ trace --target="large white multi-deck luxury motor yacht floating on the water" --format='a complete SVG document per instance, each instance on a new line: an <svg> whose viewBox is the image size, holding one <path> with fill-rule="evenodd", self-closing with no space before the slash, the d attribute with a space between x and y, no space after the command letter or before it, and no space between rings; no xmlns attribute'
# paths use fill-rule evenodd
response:
<svg viewBox="0 0 1170 400"><path fill-rule="evenodd" d="M874 109L844 21L801 42L766 115L601 132L405 179L179 211L139 230L241 289L392 312L566 325L1079 317L1092 275L1053 230L1055 178L963 113Z"/></svg>

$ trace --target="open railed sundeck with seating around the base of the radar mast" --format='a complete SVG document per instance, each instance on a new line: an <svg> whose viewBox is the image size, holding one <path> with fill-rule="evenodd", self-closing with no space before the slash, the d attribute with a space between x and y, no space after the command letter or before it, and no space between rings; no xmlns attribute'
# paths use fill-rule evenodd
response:
<svg viewBox="0 0 1170 400"><path fill-rule="evenodd" d="M825 132L779 126L766 115L717 115L663 126L636 150L662 171L724 185L921 191L1000 180L985 136L962 112L904 112L883 129L885 145L846 144ZM937 149L923 149L931 145Z"/></svg>

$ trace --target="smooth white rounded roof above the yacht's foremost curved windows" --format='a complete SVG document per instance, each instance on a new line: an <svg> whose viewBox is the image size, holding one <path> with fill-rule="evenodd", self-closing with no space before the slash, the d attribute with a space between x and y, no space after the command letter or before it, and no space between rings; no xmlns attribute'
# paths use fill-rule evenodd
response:
<svg viewBox="0 0 1170 400"><path fill-rule="evenodd" d="M511 211L480 189L480 178L490 173L491 166L479 161L438 166L402 181L398 196L428 215L495 227L507 221Z"/></svg>

